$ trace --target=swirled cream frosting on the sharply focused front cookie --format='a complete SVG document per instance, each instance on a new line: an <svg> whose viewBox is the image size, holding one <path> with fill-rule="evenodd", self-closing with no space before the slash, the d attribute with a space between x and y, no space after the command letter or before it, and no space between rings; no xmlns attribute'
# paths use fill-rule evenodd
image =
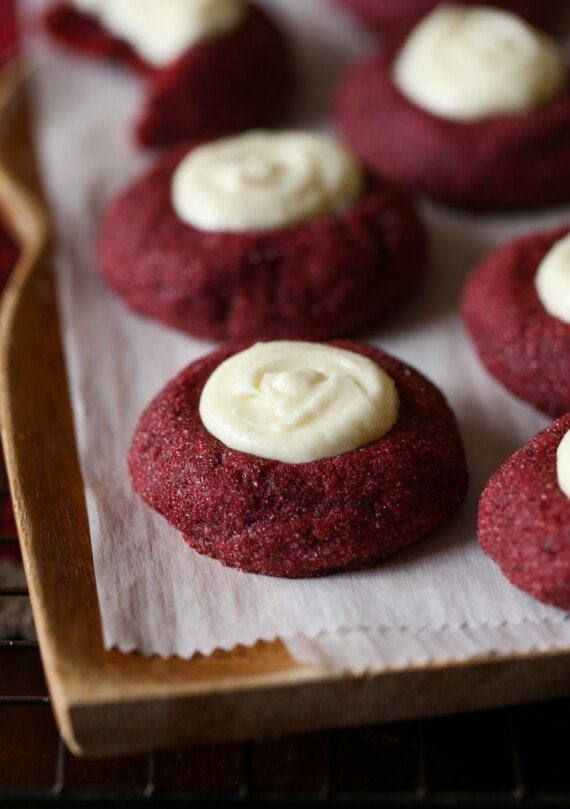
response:
<svg viewBox="0 0 570 809"><path fill-rule="evenodd" d="M276 340L216 368L202 391L200 417L232 449L306 463L385 435L398 417L398 393L392 378L361 354Z"/></svg>

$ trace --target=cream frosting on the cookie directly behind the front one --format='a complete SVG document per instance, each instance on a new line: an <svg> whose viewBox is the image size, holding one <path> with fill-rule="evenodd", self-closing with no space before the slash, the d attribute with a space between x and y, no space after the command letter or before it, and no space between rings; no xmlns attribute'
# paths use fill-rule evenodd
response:
<svg viewBox="0 0 570 809"><path fill-rule="evenodd" d="M267 230L338 213L363 183L360 162L327 135L251 131L191 151L174 172L172 204L200 230Z"/></svg>

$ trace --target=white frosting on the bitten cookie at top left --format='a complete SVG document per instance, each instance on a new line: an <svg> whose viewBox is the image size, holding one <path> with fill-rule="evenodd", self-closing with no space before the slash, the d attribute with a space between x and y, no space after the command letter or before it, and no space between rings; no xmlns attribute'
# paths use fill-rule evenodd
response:
<svg viewBox="0 0 570 809"><path fill-rule="evenodd" d="M241 21L244 0L72 0L145 61L164 67Z"/></svg>

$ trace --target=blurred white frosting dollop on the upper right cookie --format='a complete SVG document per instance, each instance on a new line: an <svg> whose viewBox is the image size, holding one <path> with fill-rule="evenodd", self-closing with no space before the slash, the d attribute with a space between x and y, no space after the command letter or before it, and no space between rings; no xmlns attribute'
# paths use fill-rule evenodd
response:
<svg viewBox="0 0 570 809"><path fill-rule="evenodd" d="M520 114L557 98L564 52L547 34L488 6L443 6L411 32L393 69L398 89L442 118Z"/></svg>

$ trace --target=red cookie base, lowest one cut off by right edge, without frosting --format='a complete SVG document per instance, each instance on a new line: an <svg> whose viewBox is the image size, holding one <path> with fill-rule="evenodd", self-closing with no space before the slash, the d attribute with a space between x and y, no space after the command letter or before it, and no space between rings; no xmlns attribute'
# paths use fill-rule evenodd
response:
<svg viewBox="0 0 570 809"><path fill-rule="evenodd" d="M570 498L560 489L556 451L567 414L511 455L479 505L479 541L512 584L570 609Z"/></svg>

